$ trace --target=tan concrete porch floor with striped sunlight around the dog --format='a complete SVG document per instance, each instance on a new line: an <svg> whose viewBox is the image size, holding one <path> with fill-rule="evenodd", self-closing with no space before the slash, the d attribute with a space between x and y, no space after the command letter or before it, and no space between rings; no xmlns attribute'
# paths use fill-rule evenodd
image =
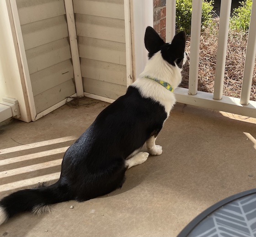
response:
<svg viewBox="0 0 256 237"><path fill-rule="evenodd" d="M0 198L58 179L64 151L107 106L89 98L80 103L29 124L0 124ZM121 190L59 203L39 217L21 214L0 226L0 236L176 237L209 206L256 187L255 124L176 104L157 139L163 154L128 170Z"/></svg>

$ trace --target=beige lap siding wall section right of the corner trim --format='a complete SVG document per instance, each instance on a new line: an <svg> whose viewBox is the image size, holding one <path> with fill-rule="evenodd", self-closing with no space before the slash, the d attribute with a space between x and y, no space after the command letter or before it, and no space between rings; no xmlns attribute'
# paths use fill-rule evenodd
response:
<svg viewBox="0 0 256 237"><path fill-rule="evenodd" d="M126 92L123 0L73 0L84 91L117 99Z"/></svg>

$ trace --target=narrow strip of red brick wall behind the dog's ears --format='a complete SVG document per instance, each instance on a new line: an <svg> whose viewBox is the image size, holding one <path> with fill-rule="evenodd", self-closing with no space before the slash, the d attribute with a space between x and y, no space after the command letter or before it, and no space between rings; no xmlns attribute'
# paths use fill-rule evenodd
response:
<svg viewBox="0 0 256 237"><path fill-rule="evenodd" d="M165 41L166 0L154 0L154 29Z"/></svg>

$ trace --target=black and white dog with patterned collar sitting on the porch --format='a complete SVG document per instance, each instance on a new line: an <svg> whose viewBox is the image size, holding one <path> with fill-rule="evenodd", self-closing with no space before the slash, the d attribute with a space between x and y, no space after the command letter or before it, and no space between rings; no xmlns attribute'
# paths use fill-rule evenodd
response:
<svg viewBox="0 0 256 237"><path fill-rule="evenodd" d="M0 201L0 224L24 211L41 213L47 205L86 201L121 188L125 171L161 155L155 139L176 100L186 61L183 31L165 43L152 27L145 32L149 61L127 93L105 108L67 149L59 180L50 186L21 190ZM146 143L148 152L139 152Z"/></svg>

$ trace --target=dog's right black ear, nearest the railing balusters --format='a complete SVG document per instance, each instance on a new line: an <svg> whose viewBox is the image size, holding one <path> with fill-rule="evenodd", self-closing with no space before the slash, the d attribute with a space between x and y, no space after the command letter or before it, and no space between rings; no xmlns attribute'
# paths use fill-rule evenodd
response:
<svg viewBox="0 0 256 237"><path fill-rule="evenodd" d="M186 33L179 32L171 41L172 55L174 60L183 59L186 45Z"/></svg>

